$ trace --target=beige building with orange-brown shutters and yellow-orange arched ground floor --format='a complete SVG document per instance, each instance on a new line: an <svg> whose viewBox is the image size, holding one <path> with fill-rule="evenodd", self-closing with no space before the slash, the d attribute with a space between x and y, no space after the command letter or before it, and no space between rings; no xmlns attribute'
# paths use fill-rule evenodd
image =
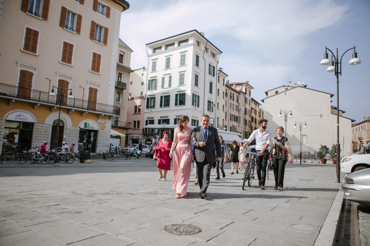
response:
<svg viewBox="0 0 370 246"><path fill-rule="evenodd" d="M107 151L125 0L1 3L2 152L75 142ZM48 148L50 147L48 145Z"/></svg>

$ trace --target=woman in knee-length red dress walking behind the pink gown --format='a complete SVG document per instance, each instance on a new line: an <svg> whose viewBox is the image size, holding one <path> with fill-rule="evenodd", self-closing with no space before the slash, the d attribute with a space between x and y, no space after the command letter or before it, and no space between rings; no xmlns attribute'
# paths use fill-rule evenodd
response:
<svg viewBox="0 0 370 246"><path fill-rule="evenodd" d="M157 168L159 172L158 180L166 181L166 175L168 170L171 169L171 157L169 157L169 150L171 150L172 142L169 137L169 132L164 131L162 133L162 139L159 139L157 148L155 148L155 156L158 156ZM164 176L162 174L164 170Z"/></svg>

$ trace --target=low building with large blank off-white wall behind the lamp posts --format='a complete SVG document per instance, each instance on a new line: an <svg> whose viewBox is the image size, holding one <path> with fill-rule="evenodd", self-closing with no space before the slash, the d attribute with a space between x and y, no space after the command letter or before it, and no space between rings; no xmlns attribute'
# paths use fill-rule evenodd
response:
<svg viewBox="0 0 370 246"><path fill-rule="evenodd" d="M289 139L293 153L300 152L299 124L306 122L307 128L302 128L302 152L313 154L320 144L329 148L337 142L336 108L331 106L333 94L300 86L280 86L266 91L268 97L262 99L265 107L265 118L268 119L268 129L276 136L276 128L285 128L283 117L278 117L281 111L292 111L293 118L287 117L286 137ZM351 153L351 122L339 112L339 139L341 155ZM294 128L297 122L297 128ZM303 124L304 126L304 124ZM285 134L284 134L285 135Z"/></svg>

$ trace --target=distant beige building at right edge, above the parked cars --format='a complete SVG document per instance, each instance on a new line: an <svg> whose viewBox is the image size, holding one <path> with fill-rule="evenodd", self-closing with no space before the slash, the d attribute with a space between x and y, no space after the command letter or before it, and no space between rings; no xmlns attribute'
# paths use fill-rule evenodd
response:
<svg viewBox="0 0 370 246"><path fill-rule="evenodd" d="M357 152L370 141L370 117L364 117L363 121L352 124L351 131L352 149Z"/></svg>

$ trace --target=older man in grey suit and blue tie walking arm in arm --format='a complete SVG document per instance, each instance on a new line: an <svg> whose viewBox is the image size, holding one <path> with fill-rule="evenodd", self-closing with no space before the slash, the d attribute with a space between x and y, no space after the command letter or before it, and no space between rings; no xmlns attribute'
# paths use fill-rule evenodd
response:
<svg viewBox="0 0 370 246"><path fill-rule="evenodd" d="M208 115L203 115L201 126L193 129L190 145L195 147L194 159L198 167L199 188L201 188L199 195L204 199L207 197L206 192L209 185L212 165L216 160L220 160L222 156L217 129L209 126ZM216 146L217 157L215 157L214 146Z"/></svg>

